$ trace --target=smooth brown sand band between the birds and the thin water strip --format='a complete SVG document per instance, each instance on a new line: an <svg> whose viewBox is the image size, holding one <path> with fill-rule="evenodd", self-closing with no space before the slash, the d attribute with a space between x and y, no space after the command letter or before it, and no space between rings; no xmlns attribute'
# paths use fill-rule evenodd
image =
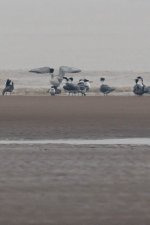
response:
<svg viewBox="0 0 150 225"><path fill-rule="evenodd" d="M149 97L0 97L1 139L150 137Z"/></svg>

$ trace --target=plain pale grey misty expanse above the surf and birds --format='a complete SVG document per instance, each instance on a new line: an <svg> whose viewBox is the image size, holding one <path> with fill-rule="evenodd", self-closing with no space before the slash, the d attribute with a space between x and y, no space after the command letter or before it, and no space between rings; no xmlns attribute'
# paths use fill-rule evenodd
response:
<svg viewBox="0 0 150 225"><path fill-rule="evenodd" d="M0 0L0 69L150 71L150 0Z"/></svg>

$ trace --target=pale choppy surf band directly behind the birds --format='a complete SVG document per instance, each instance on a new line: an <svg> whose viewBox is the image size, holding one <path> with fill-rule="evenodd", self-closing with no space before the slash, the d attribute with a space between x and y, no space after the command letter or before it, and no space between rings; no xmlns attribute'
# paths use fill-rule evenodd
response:
<svg viewBox="0 0 150 225"><path fill-rule="evenodd" d="M57 70L55 72L57 73ZM115 87L116 90L110 94L111 96L134 95L132 90L137 76L142 76L144 78L144 83L150 86L150 72L81 71L77 74L68 74L68 76L73 77L74 83L77 83L79 79L82 78L87 78L91 82L90 92L87 93L87 96L102 95L99 92L101 77L105 77L106 84ZM28 70L0 70L0 92L2 92L7 78L14 82L15 89L13 95L49 95L47 93L51 86L51 76L49 74L33 74L29 73ZM62 95L67 95L64 93L63 84L60 86Z"/></svg>

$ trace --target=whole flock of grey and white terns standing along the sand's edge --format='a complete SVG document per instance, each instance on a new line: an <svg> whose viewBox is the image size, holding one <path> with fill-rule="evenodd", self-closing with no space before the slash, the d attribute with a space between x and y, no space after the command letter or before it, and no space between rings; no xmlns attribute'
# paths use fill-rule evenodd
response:
<svg viewBox="0 0 150 225"><path fill-rule="evenodd" d="M72 77L67 77L66 74L67 73L79 73L81 72L80 69L77 68L73 68L73 67L68 67L68 66L61 66L59 68L59 72L58 74L54 73L54 69L50 68L50 67L40 67L37 69L32 69L29 72L31 73L36 73L36 74L45 74L48 73L51 76L51 87L49 89L49 93L52 96L61 94L61 87L60 85L62 84L63 81L65 81L64 85L63 85L63 89L65 92L67 92L69 95L75 95L75 94L81 94L83 96L86 95L86 93L90 90L91 87L91 81L87 80L87 79L80 79L78 83L74 83L73 82L73 78ZM9 79L8 79L9 80ZM2 95L5 95L5 93L7 94L7 92L12 93L14 90L14 83L11 82L6 82L6 86L2 91ZM111 87L107 84L105 84L105 78L101 77L100 78L100 88L99 91L101 93L103 93L104 95L108 95L109 93L115 91L114 87ZM133 87L133 93L135 95L143 95L143 94L150 94L150 86L146 86L144 84L143 78L141 76L138 76L135 79L135 85Z"/></svg>

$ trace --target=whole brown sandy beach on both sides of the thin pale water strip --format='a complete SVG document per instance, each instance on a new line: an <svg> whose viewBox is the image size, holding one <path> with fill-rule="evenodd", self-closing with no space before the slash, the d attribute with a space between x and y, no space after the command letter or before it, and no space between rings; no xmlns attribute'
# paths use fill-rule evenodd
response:
<svg viewBox="0 0 150 225"><path fill-rule="evenodd" d="M149 97L1 96L1 140L150 137ZM0 145L3 225L149 225L149 146Z"/></svg>

